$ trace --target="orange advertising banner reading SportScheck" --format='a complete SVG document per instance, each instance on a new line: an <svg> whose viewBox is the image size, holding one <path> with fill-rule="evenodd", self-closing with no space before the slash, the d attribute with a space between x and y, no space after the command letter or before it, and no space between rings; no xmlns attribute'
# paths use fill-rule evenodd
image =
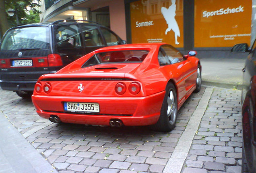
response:
<svg viewBox="0 0 256 173"><path fill-rule="evenodd" d="M251 0L194 0L194 47L250 45Z"/></svg>

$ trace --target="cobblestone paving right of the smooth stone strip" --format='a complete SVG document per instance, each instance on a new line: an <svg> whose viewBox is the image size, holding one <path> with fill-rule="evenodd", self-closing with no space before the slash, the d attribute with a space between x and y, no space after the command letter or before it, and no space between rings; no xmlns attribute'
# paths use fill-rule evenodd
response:
<svg viewBox="0 0 256 173"><path fill-rule="evenodd" d="M241 173L241 91L215 88L183 173Z"/></svg>

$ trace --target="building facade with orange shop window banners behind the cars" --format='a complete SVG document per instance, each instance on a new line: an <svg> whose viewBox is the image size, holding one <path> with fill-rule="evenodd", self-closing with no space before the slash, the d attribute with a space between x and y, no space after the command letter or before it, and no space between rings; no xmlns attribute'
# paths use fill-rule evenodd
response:
<svg viewBox="0 0 256 173"><path fill-rule="evenodd" d="M91 20L128 43L167 42L182 51L227 54L251 44L254 0L42 0L41 22Z"/></svg>

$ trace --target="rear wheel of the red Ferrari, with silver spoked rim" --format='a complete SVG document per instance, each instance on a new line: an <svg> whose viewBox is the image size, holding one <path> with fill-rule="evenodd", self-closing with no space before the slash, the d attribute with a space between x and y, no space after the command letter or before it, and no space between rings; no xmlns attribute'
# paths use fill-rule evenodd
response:
<svg viewBox="0 0 256 173"><path fill-rule="evenodd" d="M165 97L161 107L160 117L152 129L156 131L171 131L174 129L178 116L178 102L175 86L168 83L165 89Z"/></svg>

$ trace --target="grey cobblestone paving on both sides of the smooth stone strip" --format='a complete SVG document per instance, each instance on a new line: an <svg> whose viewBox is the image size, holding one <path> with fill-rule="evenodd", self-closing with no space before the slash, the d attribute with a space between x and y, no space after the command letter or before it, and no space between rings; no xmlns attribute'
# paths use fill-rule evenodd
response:
<svg viewBox="0 0 256 173"><path fill-rule="evenodd" d="M163 173L204 91L188 98L169 133L50 123L36 114L31 100L2 89L0 111L60 173ZM214 90L182 172L241 171L240 93Z"/></svg>

